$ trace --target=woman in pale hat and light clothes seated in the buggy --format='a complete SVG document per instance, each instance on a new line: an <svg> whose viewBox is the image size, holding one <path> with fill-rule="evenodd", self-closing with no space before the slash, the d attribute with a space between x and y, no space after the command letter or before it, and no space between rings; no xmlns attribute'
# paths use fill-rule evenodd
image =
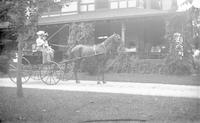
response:
<svg viewBox="0 0 200 123"><path fill-rule="evenodd" d="M47 41L48 33L44 31L37 32L36 50L42 52L43 64L53 59L54 50L49 46Z"/></svg>

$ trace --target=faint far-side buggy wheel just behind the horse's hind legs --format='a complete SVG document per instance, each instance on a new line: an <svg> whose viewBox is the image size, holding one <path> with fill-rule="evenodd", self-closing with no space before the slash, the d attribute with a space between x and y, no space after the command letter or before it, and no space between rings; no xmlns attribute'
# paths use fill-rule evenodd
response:
<svg viewBox="0 0 200 123"><path fill-rule="evenodd" d="M63 80L70 80L73 77L73 69L74 69L74 62L66 62L60 65L61 70L63 71L62 79Z"/></svg>

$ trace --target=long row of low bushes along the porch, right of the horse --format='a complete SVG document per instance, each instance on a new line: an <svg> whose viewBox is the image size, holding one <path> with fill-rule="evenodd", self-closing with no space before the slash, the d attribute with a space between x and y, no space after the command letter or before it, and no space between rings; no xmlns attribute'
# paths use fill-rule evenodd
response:
<svg viewBox="0 0 200 123"><path fill-rule="evenodd" d="M114 73L161 74L164 68L167 69L164 74L171 75L188 75L193 72L191 59L179 60L172 56L166 59L138 59L122 54L107 63L108 71Z"/></svg>

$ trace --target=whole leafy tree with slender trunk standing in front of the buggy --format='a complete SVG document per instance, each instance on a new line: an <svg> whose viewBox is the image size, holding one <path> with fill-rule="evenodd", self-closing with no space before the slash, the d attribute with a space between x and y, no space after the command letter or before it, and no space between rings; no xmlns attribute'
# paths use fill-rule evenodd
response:
<svg viewBox="0 0 200 123"><path fill-rule="evenodd" d="M62 2L71 0L62 0ZM11 23L11 28L15 30L16 42L18 43L18 74L17 74L17 96L23 97L21 82L21 62L23 45L37 31L38 17L46 7L55 5L53 0L2 0L0 2L0 17L2 21ZM56 4L56 5L59 5ZM3 20L5 19L5 20Z"/></svg>

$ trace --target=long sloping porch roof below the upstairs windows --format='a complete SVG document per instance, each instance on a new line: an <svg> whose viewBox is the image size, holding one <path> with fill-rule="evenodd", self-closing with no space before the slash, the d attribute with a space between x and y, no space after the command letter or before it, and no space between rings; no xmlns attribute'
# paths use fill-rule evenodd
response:
<svg viewBox="0 0 200 123"><path fill-rule="evenodd" d="M97 10L93 12L85 12L72 15L64 15L64 13L57 13L54 15L46 15L46 17L44 16L39 18L39 25L63 24L96 20L114 20L123 18L138 18L162 15L165 16L166 14L169 14L169 11L139 8Z"/></svg>

